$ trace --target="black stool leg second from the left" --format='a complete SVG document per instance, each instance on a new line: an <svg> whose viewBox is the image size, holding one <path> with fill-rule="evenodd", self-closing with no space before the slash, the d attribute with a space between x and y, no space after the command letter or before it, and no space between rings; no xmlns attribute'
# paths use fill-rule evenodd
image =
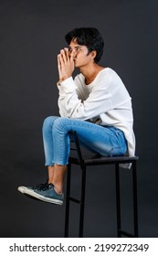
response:
<svg viewBox="0 0 158 256"><path fill-rule="evenodd" d="M81 198L80 198L80 216L79 216L79 238L83 237L84 208L85 208L85 190L86 190L86 165L81 167Z"/></svg>

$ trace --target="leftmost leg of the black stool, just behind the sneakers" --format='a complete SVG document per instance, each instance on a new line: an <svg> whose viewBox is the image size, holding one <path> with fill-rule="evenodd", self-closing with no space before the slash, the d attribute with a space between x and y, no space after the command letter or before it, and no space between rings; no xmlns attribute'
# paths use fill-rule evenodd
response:
<svg viewBox="0 0 158 256"><path fill-rule="evenodd" d="M68 238L70 176L71 176L71 164L69 163L68 164L68 172L67 172L65 238Z"/></svg>

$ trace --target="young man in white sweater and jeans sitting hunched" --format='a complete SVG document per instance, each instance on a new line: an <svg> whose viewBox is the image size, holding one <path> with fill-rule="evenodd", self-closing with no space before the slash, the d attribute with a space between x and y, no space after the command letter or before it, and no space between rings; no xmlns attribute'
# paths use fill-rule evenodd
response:
<svg viewBox="0 0 158 256"><path fill-rule="evenodd" d="M93 27L81 27L66 35L68 48L58 54L58 107L60 117L47 117L43 141L48 170L47 183L18 187L31 197L62 204L68 165L69 131L79 143L100 155L134 155L131 97L116 72L98 62L104 42ZM72 74L79 68L79 75Z"/></svg>

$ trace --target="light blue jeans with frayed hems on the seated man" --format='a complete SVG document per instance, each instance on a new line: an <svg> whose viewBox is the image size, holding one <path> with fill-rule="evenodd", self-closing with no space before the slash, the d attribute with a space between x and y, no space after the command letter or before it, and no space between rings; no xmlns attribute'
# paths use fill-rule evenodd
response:
<svg viewBox="0 0 158 256"><path fill-rule="evenodd" d="M68 165L69 131L76 131L79 143L97 155L124 155L127 142L124 133L113 126L50 116L43 123L46 165Z"/></svg>

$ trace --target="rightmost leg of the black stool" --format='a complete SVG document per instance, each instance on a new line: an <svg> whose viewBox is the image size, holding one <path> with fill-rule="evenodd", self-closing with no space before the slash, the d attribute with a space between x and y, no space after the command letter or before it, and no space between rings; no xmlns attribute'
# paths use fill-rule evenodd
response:
<svg viewBox="0 0 158 256"><path fill-rule="evenodd" d="M132 163L132 191L133 191L133 217L134 217L134 237L138 237L138 202L137 202L137 176L136 161Z"/></svg>

